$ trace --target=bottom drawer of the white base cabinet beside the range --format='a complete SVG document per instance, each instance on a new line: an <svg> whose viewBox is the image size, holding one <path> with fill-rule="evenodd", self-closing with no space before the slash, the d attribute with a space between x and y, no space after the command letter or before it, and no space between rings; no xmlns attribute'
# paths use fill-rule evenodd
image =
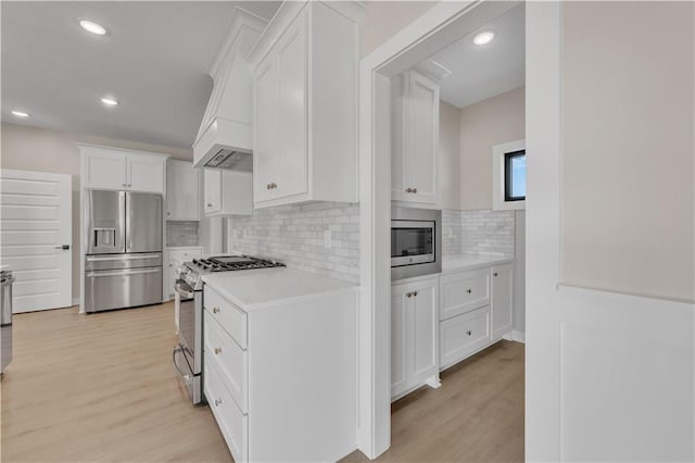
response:
<svg viewBox="0 0 695 463"><path fill-rule="evenodd" d="M205 398L236 462L249 461L249 416L241 413L225 388L217 366L205 365Z"/></svg>

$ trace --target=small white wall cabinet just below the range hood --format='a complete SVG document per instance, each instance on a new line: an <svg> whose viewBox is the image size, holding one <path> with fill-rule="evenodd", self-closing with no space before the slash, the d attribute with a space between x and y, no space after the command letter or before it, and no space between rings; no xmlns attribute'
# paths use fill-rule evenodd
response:
<svg viewBox="0 0 695 463"><path fill-rule="evenodd" d="M203 211L208 217L253 212L252 175L249 172L205 168L203 188Z"/></svg>

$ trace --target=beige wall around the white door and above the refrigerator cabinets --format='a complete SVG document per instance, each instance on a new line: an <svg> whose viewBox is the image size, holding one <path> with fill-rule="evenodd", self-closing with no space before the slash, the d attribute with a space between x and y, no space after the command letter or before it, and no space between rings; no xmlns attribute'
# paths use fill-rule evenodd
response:
<svg viewBox="0 0 695 463"><path fill-rule="evenodd" d="M140 149L192 160L192 150L65 134L3 123L0 130L0 167L52 172L73 176L73 299L79 298L79 150L78 142Z"/></svg>

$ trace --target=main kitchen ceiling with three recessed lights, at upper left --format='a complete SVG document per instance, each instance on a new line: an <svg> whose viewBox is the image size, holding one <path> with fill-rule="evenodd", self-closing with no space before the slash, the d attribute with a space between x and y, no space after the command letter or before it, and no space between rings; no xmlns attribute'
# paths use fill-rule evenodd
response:
<svg viewBox="0 0 695 463"><path fill-rule="evenodd" d="M212 90L205 73L236 7L277 1L3 1L2 121L190 148ZM78 17L109 30L94 36ZM105 108L113 95L121 104ZM31 114L20 120L11 114Z"/></svg>

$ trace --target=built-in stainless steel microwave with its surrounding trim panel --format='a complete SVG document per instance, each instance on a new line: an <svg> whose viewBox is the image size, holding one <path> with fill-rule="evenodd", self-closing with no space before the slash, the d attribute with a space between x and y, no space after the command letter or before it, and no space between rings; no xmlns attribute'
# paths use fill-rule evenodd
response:
<svg viewBox="0 0 695 463"><path fill-rule="evenodd" d="M391 208L391 278L442 271L442 211Z"/></svg>

